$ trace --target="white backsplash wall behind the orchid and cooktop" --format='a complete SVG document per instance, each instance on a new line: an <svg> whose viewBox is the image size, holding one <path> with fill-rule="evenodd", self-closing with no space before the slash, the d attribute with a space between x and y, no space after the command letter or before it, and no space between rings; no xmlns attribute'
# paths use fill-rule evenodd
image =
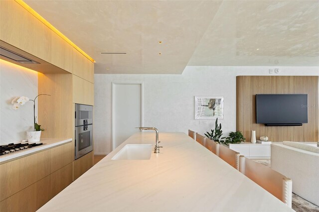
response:
<svg viewBox="0 0 319 212"><path fill-rule="evenodd" d="M38 94L37 72L0 62L0 144L18 142L33 129L33 104L28 102L17 110L11 100L16 96L34 99ZM37 106L36 106L37 108ZM37 111L35 113L37 115Z"/></svg>

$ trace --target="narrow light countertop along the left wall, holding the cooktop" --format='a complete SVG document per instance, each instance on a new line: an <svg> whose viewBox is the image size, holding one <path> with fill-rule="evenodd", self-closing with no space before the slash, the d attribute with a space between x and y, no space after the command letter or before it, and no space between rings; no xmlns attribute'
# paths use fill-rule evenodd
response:
<svg viewBox="0 0 319 212"><path fill-rule="evenodd" d="M17 151L14 153L10 153L8 155L1 155L0 164L18 159L20 157L25 157L27 155L34 154L38 151L43 151L45 149L49 149L54 146L62 145L64 143L69 143L71 141L72 141L72 138L43 138L40 140L40 142L43 143L43 145L35 146L22 151Z"/></svg>

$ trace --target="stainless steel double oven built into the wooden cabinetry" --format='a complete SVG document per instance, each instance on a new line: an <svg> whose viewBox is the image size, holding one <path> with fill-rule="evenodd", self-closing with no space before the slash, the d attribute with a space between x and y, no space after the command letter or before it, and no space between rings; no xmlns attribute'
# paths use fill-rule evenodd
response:
<svg viewBox="0 0 319 212"><path fill-rule="evenodd" d="M75 159L93 150L93 106L75 104Z"/></svg>

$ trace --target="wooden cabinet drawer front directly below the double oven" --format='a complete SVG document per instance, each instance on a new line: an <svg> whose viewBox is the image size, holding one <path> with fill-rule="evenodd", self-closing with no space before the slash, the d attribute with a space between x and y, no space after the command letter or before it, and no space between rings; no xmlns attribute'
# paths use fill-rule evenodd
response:
<svg viewBox="0 0 319 212"><path fill-rule="evenodd" d="M78 179L94 165L94 151L73 161L73 181Z"/></svg>

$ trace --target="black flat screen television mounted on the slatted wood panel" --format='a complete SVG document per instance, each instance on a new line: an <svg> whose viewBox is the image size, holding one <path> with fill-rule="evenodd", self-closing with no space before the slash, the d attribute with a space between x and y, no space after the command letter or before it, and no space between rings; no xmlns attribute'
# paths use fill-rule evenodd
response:
<svg viewBox="0 0 319 212"><path fill-rule="evenodd" d="M256 118L267 126L308 123L308 95L257 94Z"/></svg>

